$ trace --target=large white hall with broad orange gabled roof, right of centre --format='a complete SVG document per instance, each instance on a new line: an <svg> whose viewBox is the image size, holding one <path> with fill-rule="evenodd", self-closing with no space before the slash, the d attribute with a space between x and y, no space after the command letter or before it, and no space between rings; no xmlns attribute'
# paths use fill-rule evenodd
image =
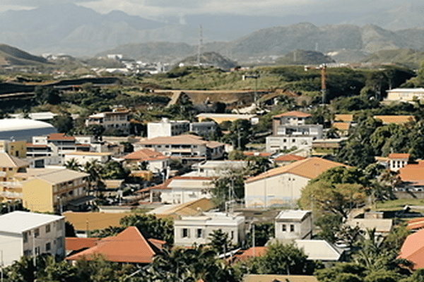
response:
<svg viewBox="0 0 424 282"><path fill-rule="evenodd" d="M312 157L248 178L245 180L246 207L293 206L312 178L337 166L346 165Z"/></svg>

